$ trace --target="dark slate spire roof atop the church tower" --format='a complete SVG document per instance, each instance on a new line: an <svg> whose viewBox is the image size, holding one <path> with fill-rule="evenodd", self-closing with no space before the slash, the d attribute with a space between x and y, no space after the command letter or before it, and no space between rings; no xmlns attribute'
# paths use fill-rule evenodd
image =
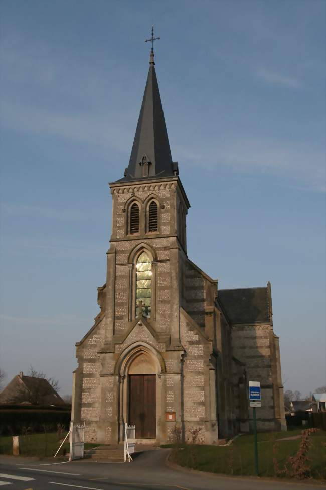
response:
<svg viewBox="0 0 326 490"><path fill-rule="evenodd" d="M154 65L154 53L151 51L129 165L119 182L178 175L178 164L172 162Z"/></svg>

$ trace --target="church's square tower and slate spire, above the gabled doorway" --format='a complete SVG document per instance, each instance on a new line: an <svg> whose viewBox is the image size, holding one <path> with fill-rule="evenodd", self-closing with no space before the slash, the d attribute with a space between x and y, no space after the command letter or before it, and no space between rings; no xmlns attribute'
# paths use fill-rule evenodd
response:
<svg viewBox="0 0 326 490"><path fill-rule="evenodd" d="M179 254L186 254L190 204L179 178L178 162L171 157L153 49L129 164L123 177L109 185L113 214L106 309L111 302L112 312L107 316L107 340L143 316L156 331L169 337L171 346L178 347ZM116 278L114 295L110 284L122 269L128 270L128 287L118 291Z"/></svg>

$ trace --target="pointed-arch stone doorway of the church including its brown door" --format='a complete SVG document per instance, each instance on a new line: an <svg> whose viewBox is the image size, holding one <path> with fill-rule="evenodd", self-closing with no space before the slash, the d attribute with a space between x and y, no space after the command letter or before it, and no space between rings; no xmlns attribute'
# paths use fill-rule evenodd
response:
<svg viewBox="0 0 326 490"><path fill-rule="evenodd" d="M137 342L121 354L118 364L120 440L125 424L135 425L136 439L156 439L164 361L153 347Z"/></svg>

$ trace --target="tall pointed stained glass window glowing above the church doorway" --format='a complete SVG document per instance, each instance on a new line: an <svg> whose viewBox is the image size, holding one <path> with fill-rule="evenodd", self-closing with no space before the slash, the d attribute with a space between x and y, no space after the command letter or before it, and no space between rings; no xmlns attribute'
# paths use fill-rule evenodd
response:
<svg viewBox="0 0 326 490"><path fill-rule="evenodd" d="M143 252L136 264L136 316L150 318L151 311L151 261Z"/></svg>

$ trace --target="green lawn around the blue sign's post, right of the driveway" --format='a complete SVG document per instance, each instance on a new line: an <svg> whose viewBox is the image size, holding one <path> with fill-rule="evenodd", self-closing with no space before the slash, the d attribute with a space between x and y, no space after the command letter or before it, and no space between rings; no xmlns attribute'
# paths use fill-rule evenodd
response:
<svg viewBox="0 0 326 490"><path fill-rule="evenodd" d="M260 476L277 476L273 459L276 458L280 469L287 463L289 456L297 453L300 439L276 441L301 434L301 430L291 432L266 432L258 434L258 458ZM238 437L227 447L182 445L175 448L171 459L180 466L232 475L254 475L254 438L253 435ZM308 452L310 476L326 479L326 432L319 431L311 435L312 446Z"/></svg>

